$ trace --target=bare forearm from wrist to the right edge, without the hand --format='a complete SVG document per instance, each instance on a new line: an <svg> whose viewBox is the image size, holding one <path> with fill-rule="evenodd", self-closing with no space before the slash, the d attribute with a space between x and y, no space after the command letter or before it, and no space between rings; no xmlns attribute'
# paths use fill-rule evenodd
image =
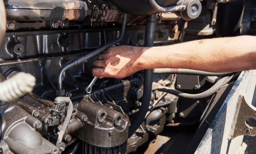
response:
<svg viewBox="0 0 256 154"><path fill-rule="evenodd" d="M188 68L209 72L256 69L256 37L239 36L141 48L140 69Z"/></svg>

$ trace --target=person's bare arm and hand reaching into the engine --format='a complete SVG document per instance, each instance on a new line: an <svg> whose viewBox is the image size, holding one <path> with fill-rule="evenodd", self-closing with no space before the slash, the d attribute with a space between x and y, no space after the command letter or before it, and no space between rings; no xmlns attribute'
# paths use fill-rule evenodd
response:
<svg viewBox="0 0 256 154"><path fill-rule="evenodd" d="M94 76L119 79L152 68L208 72L256 69L256 36L204 39L162 47L116 46L99 55L94 66Z"/></svg>

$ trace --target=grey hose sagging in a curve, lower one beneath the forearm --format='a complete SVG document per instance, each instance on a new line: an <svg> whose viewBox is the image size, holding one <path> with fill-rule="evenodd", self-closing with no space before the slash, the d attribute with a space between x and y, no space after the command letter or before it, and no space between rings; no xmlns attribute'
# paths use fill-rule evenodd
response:
<svg viewBox="0 0 256 154"><path fill-rule="evenodd" d="M170 87L164 87L164 86L158 86L157 90L158 91L167 92L167 93L176 95L176 96L181 97L181 98L201 99L201 98L205 98L205 97L211 96L216 91L218 91L223 86L223 84L225 84L227 79L228 79L228 76L226 76L224 78L221 78L210 89L208 89L208 90L206 90L206 91L204 91L202 93L199 93L199 94L188 94L188 93L184 93L184 92L181 92L179 90L172 89Z"/></svg>

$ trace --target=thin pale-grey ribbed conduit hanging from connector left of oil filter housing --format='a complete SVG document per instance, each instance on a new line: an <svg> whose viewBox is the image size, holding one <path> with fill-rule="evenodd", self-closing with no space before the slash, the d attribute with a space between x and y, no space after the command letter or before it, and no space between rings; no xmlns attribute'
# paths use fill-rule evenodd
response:
<svg viewBox="0 0 256 154"><path fill-rule="evenodd" d="M72 101L70 100L69 97L56 97L54 102L64 102L64 103L68 103L68 109L67 109L67 115L66 115L66 118L60 128L60 131L58 132L58 139L57 139L57 142L56 142L56 145L59 145L61 144L62 142L62 138L66 132L66 129L68 127L68 124L69 124L69 121L70 121L70 118L72 116L72 112L73 112L73 103Z"/></svg>

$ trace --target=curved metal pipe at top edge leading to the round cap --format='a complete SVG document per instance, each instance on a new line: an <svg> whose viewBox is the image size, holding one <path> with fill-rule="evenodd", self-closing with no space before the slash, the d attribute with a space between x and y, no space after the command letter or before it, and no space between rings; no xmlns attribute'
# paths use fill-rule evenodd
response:
<svg viewBox="0 0 256 154"><path fill-rule="evenodd" d="M159 13L166 13L166 12L174 12L174 11L183 11L186 10L185 5L177 5L177 6L170 6L170 7L161 7L157 4L155 0L148 0L149 4Z"/></svg>

